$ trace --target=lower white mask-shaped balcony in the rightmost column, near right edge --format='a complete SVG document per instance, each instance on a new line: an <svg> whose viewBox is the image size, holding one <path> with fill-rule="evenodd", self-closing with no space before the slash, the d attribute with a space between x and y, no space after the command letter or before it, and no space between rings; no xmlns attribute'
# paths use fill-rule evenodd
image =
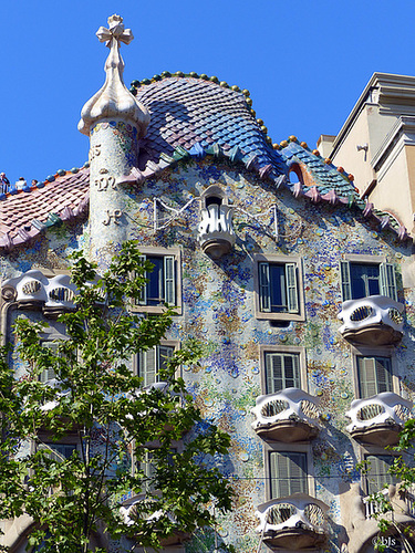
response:
<svg viewBox="0 0 415 553"><path fill-rule="evenodd" d="M392 392L355 399L345 414L351 419L346 430L357 441L381 447L393 446L398 440L403 425L411 418L412 406L412 401Z"/></svg>

